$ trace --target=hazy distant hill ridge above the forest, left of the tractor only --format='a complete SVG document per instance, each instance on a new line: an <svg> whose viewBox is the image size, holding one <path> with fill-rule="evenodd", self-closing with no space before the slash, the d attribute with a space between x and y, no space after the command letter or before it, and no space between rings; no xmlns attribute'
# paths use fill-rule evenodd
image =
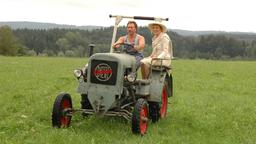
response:
<svg viewBox="0 0 256 144"><path fill-rule="evenodd" d="M101 26L75 26L75 25L63 25L54 23L41 23L41 22L0 22L0 26L8 25L12 29L83 29L83 30L93 30L99 29Z"/></svg>

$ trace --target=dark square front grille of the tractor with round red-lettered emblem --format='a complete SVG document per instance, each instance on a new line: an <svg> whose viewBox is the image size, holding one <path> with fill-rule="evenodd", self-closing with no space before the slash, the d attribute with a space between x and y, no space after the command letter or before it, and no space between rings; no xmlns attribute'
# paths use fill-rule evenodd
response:
<svg viewBox="0 0 256 144"><path fill-rule="evenodd" d="M117 62L92 60L90 82L95 84L115 85L117 77Z"/></svg>

